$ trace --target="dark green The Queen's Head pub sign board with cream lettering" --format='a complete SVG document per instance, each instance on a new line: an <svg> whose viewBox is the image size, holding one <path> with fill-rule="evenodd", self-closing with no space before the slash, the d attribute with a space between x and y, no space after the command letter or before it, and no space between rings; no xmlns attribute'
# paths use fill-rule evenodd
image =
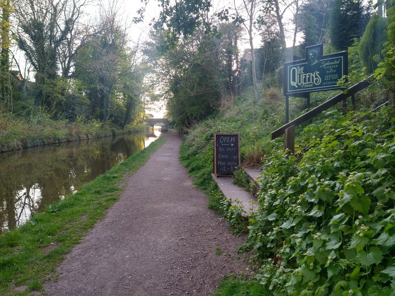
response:
<svg viewBox="0 0 395 296"><path fill-rule="evenodd" d="M284 95L341 89L348 74L347 51L322 55L322 44L306 47L306 59L284 63Z"/></svg>

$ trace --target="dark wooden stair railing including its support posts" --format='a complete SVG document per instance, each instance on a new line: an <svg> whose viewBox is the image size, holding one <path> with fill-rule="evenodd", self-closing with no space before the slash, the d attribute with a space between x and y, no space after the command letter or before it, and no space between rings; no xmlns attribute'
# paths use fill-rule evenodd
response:
<svg viewBox="0 0 395 296"><path fill-rule="evenodd" d="M368 87L369 85L372 84L368 80L369 78L370 77L356 83L352 87L348 88L346 92L343 92L343 93L340 93L340 94L334 96L332 99L326 101L325 103L322 103L321 105L317 106L316 108L306 112L305 114L295 118L294 120L284 124L283 126L281 126L278 129L276 129L274 132L272 132L272 140L285 134L285 138L286 138L285 139L285 148L289 148L291 151L293 151L294 130L295 130L296 126L312 119L313 117L317 116L321 112L333 107L337 103L343 102L343 108L346 109L346 100L348 97L352 98L353 108L355 109L355 94L358 91L361 91L362 89L365 89L366 87ZM287 143L288 143L288 145L287 145Z"/></svg>

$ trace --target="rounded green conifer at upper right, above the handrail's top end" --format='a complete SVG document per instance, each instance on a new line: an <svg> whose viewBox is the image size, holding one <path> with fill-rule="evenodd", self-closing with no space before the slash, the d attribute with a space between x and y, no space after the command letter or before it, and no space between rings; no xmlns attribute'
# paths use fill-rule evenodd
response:
<svg viewBox="0 0 395 296"><path fill-rule="evenodd" d="M366 74L371 74L377 68L378 62L383 59L382 50L387 40L387 22L375 13L369 20L359 42L359 56L366 68Z"/></svg>

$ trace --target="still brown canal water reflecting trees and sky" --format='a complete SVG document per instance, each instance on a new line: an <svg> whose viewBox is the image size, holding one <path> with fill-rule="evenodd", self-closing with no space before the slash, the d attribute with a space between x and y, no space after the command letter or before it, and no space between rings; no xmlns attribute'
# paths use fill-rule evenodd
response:
<svg viewBox="0 0 395 296"><path fill-rule="evenodd" d="M0 233L144 149L160 132L0 153Z"/></svg>

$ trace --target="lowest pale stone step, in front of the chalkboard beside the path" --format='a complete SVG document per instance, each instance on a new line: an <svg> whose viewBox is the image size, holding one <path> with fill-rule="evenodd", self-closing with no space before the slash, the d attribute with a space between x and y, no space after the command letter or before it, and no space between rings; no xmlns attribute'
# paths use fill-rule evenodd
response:
<svg viewBox="0 0 395 296"><path fill-rule="evenodd" d="M232 205L237 204L237 200L245 212L241 214L243 217L251 217L251 214L258 210L258 203L251 193L245 191L243 188L233 184L232 178L228 177L215 177L211 174L213 180L217 183L222 194L232 202Z"/></svg>

